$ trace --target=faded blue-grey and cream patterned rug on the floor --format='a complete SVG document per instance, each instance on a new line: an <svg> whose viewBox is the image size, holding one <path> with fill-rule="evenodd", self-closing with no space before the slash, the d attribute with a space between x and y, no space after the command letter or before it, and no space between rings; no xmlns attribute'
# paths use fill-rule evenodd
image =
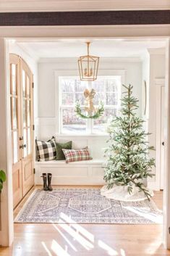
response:
<svg viewBox="0 0 170 256"><path fill-rule="evenodd" d="M15 223L162 223L152 199L121 202L101 196L100 189L36 189Z"/></svg>

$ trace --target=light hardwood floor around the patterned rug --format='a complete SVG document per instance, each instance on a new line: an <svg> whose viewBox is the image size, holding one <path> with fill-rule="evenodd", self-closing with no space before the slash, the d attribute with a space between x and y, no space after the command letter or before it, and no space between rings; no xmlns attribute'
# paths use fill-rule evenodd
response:
<svg viewBox="0 0 170 256"><path fill-rule="evenodd" d="M31 193L31 191L30 191ZM29 194L30 194L29 193ZM14 210L14 215L29 194ZM162 191L153 198L161 209ZM14 244L2 256L170 255L161 243L161 225L14 224Z"/></svg>

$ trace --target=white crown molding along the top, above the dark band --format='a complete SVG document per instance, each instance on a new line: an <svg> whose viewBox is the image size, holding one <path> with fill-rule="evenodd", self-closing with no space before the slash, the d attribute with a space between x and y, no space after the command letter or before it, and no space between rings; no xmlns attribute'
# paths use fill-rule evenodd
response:
<svg viewBox="0 0 170 256"><path fill-rule="evenodd" d="M169 0L1 0L0 12L70 12L170 9Z"/></svg>

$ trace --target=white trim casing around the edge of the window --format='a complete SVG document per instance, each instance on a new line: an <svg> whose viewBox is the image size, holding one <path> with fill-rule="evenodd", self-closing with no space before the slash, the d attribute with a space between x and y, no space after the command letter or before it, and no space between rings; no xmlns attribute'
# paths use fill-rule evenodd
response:
<svg viewBox="0 0 170 256"><path fill-rule="evenodd" d="M98 76L109 76L109 75L110 76L119 75L121 77L121 84L124 84L126 70L100 70L98 72ZM62 76L63 77L79 76L79 73L78 73L78 70L57 70L57 71L54 70L56 134L58 134L59 136L68 136L68 134L61 133L61 112L60 112L61 97L59 97L59 95L61 95L61 91L59 88L59 77L62 77ZM85 134L78 134L76 136L107 136L107 133L104 133L104 134L85 133Z"/></svg>

